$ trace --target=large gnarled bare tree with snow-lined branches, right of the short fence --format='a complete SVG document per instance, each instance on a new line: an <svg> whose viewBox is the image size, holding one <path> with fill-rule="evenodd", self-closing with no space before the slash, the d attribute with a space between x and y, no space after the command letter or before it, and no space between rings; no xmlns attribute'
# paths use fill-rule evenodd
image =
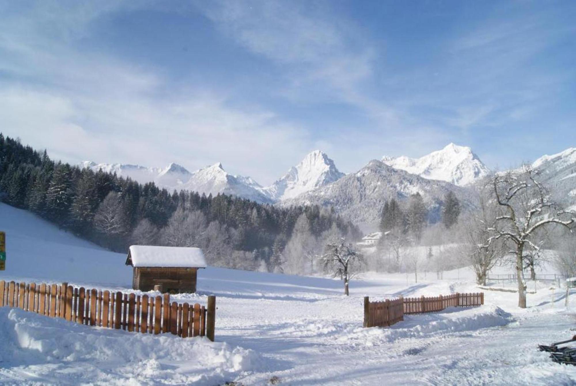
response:
<svg viewBox="0 0 576 386"><path fill-rule="evenodd" d="M540 229L551 225L570 229L576 221L573 214L570 215L551 201L550 194L536 180L536 175L536 171L525 165L520 172L507 172L492 179L496 202L502 213L495 218L494 226L490 228L494 236L488 238L486 245L501 239L514 245L511 252L516 256L520 308L526 308L525 247L540 249L538 240L535 240Z"/></svg>

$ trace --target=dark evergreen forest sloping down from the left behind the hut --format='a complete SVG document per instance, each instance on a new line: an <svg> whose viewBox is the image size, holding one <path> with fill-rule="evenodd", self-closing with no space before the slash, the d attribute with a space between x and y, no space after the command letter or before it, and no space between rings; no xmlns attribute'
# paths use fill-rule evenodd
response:
<svg viewBox="0 0 576 386"><path fill-rule="evenodd" d="M194 246L203 248L210 265L252 270L290 265L290 272L304 271L285 256L286 245L294 251L295 236L321 244L328 236L361 235L319 206L282 208L223 194L170 194L154 183L52 161L46 150L37 152L2 133L0 200L113 251L126 252L130 244Z"/></svg>

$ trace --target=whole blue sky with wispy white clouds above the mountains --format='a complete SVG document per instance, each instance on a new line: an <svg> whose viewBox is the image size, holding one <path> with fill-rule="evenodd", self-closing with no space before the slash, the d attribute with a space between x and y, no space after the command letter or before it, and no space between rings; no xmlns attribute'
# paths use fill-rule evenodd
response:
<svg viewBox="0 0 576 386"><path fill-rule="evenodd" d="M449 142L576 146L576 2L0 1L0 131L69 162L221 161L270 184Z"/></svg>

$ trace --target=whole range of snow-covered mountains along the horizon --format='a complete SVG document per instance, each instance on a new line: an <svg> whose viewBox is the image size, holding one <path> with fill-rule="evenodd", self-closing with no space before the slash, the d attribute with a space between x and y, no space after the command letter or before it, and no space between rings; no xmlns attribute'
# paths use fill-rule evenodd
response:
<svg viewBox="0 0 576 386"><path fill-rule="evenodd" d="M153 181L170 191L229 194L282 206L332 206L344 218L365 229L374 227L385 200L392 197L404 200L419 192L429 208L431 221L438 220L442 200L448 191L453 191L464 207L471 206L469 190L491 174L470 147L454 143L420 158L384 156L347 175L336 168L327 154L314 150L268 187L261 186L251 177L231 175L220 163L195 172L177 164L147 168L85 161L81 166L115 172L140 183ZM558 188L555 191L559 198L568 199L571 205L576 203L575 148L543 156L532 166L540 170L544 181Z"/></svg>

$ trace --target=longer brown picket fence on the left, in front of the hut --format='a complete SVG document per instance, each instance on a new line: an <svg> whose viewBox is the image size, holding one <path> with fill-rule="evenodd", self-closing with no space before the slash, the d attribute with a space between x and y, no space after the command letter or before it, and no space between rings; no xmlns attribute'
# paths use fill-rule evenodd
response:
<svg viewBox="0 0 576 386"><path fill-rule="evenodd" d="M207 308L196 303L170 304L164 296L136 295L73 287L67 283L15 283L0 281L0 306L21 308L49 317L60 317L87 326L99 326L142 334L206 336L214 341L215 296Z"/></svg>

